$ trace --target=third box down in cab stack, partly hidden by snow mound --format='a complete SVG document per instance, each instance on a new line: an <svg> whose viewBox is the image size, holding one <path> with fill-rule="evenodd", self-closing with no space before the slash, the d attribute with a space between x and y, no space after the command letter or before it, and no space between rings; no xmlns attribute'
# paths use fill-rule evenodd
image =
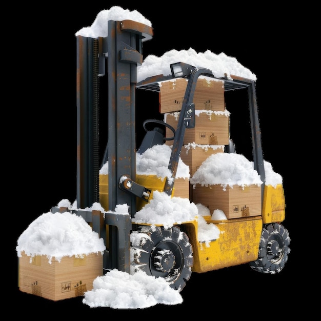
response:
<svg viewBox="0 0 321 321"><path fill-rule="evenodd" d="M204 160L208 156L216 153L224 153L224 145L188 144L182 147L180 158L182 158L183 162L189 166L190 175L193 177Z"/></svg>

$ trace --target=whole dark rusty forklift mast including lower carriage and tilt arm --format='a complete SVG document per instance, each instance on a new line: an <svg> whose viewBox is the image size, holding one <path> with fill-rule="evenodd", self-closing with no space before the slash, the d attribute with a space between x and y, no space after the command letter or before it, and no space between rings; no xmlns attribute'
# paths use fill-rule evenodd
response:
<svg viewBox="0 0 321 321"><path fill-rule="evenodd" d="M135 89L137 66L143 63L142 43L152 36L152 28L142 23L110 20L107 37L76 39L77 209L71 212L82 216L104 239L104 274L106 269L130 273L131 217L136 197L144 199L150 192L135 183ZM99 77L106 73L106 59L109 208L102 213L90 208L99 202ZM128 213L116 213L118 204L127 204Z"/></svg>

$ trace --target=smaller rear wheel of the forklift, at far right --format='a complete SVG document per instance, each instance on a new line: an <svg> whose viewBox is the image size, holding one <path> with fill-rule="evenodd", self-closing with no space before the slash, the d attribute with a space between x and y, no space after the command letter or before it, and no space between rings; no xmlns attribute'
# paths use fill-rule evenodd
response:
<svg viewBox="0 0 321 321"><path fill-rule="evenodd" d="M258 258L250 262L250 267L261 273L275 274L283 270L290 253L290 236L279 223L263 227Z"/></svg>

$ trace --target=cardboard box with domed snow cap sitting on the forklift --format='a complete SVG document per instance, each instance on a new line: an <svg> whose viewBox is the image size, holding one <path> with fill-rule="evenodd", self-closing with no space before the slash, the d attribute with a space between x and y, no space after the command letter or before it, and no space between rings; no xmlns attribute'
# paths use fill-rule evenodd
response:
<svg viewBox="0 0 321 321"><path fill-rule="evenodd" d="M210 155L196 170L190 183L193 202L205 205L211 213L219 209L227 218L262 214L262 181L253 162L243 155Z"/></svg>

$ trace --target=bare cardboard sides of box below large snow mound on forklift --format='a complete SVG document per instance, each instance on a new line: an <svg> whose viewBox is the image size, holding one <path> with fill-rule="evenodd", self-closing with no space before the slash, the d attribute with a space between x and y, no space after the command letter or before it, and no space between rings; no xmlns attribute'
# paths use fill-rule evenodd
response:
<svg viewBox="0 0 321 321"><path fill-rule="evenodd" d="M227 187L220 185L209 187L196 184L193 189L193 202L201 203L214 210L222 210L227 218L262 215L261 187L250 185L244 189L241 186Z"/></svg>

